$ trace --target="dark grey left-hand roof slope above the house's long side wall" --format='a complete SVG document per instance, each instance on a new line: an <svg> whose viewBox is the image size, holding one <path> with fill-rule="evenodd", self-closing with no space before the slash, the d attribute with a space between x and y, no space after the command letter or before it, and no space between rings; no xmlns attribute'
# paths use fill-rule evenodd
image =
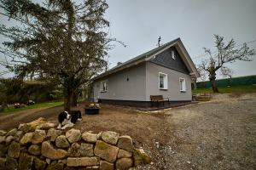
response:
<svg viewBox="0 0 256 170"><path fill-rule="evenodd" d="M148 56L151 56L152 54L155 54L155 53L159 52L159 51L162 50L163 48L166 48L167 46L169 46L170 44L172 44L173 42L176 42L176 41L178 41L178 40L180 40L179 37L178 37L177 39L172 40L171 42L167 42L167 43L165 43L164 45L161 45L161 46L158 47L158 48L154 48L154 49L152 49L152 50L150 50L150 51L148 51L148 52L146 52L146 53L143 53L143 54L138 55L138 56L135 57L135 58L129 59L129 60L125 61L125 62L122 63L122 64L116 65L116 66L114 66L113 68L111 68L110 70L103 72L102 74L100 74L100 75L97 76L97 77L94 77L93 80L96 80L96 79L98 79L98 78L100 78L100 77L104 77L105 75L108 75L109 72L115 71L115 70L117 70L117 69L119 69L119 68L121 68L121 67L123 67L123 66L125 66L125 65L129 65L129 64L131 64L131 63L133 63L133 62L135 62L135 61L137 61L137 60L139 60L139 59L147 58Z"/></svg>

